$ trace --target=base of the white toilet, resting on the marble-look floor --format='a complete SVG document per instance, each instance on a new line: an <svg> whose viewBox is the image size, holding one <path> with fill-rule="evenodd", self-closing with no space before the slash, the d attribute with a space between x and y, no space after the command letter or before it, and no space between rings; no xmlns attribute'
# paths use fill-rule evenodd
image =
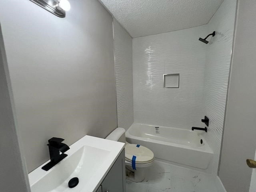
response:
<svg viewBox="0 0 256 192"><path fill-rule="evenodd" d="M126 179L141 182L145 179L145 168L136 168L133 170L131 166L126 165Z"/></svg>

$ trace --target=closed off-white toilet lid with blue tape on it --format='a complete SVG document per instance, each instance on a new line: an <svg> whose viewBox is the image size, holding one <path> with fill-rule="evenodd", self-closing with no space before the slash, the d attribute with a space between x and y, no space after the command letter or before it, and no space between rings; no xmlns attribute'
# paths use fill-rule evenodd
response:
<svg viewBox="0 0 256 192"><path fill-rule="evenodd" d="M136 156L136 163L149 163L154 160L154 153L150 149L141 145L137 147L136 144L127 144L125 146L126 160L132 162L133 156Z"/></svg>

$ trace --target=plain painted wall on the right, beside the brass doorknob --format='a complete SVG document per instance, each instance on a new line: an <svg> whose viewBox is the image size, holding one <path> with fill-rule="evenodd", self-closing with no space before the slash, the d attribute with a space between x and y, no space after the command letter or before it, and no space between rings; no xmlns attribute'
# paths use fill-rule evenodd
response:
<svg viewBox="0 0 256 192"><path fill-rule="evenodd" d="M255 173L246 165L246 159L254 159L256 150L255 10L254 0L238 1L219 170L227 192L248 192L252 171ZM255 174L252 180L255 182Z"/></svg>

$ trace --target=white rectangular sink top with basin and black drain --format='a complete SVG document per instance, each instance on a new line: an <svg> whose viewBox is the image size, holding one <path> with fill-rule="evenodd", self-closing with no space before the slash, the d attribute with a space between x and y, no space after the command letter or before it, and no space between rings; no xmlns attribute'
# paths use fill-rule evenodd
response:
<svg viewBox="0 0 256 192"><path fill-rule="evenodd" d="M124 148L124 143L84 136L70 146L68 154L49 171L43 164L28 174L31 192L94 192ZM71 178L79 184L68 187Z"/></svg>

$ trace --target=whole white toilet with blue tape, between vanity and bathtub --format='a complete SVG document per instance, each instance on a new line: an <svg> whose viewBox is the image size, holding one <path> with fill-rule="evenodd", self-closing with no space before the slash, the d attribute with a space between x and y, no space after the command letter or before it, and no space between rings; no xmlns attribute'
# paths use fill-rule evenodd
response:
<svg viewBox="0 0 256 192"><path fill-rule="evenodd" d="M137 144L129 144L125 139L124 128L116 128L106 139L125 143L126 178L135 182L145 179L145 168L154 162L154 153Z"/></svg>

